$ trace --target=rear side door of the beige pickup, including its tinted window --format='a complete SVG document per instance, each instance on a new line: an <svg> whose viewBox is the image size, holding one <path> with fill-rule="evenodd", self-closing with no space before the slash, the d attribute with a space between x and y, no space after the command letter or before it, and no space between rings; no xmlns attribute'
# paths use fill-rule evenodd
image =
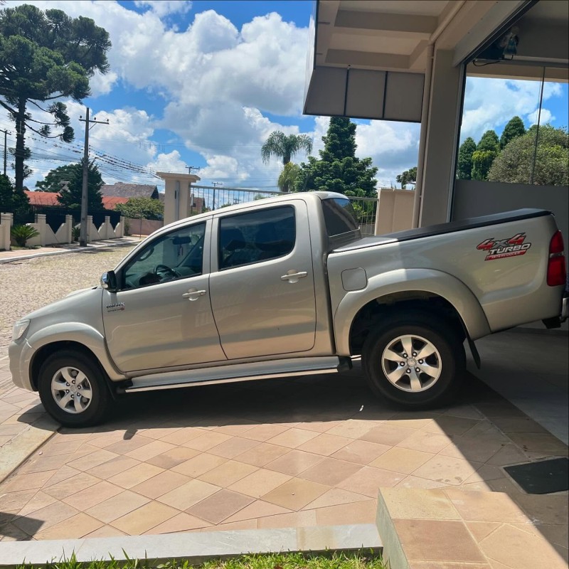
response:
<svg viewBox="0 0 569 569"><path fill-rule="evenodd" d="M211 305L229 359L309 351L314 346L308 223L302 200L214 218Z"/></svg>

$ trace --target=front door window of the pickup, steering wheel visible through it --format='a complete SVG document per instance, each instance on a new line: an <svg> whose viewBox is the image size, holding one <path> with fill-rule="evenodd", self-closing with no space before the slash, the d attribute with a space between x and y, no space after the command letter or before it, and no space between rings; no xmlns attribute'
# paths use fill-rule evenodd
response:
<svg viewBox="0 0 569 569"><path fill-rule="evenodd" d="M201 275L206 224L191 225L153 240L124 267L124 288Z"/></svg>

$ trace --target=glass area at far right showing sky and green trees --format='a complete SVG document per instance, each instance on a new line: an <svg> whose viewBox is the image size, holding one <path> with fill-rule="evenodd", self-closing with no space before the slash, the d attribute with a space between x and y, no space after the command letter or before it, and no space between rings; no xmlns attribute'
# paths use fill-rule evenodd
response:
<svg viewBox="0 0 569 569"><path fill-rule="evenodd" d="M569 184L568 85L539 70L539 80L467 77L457 179Z"/></svg>

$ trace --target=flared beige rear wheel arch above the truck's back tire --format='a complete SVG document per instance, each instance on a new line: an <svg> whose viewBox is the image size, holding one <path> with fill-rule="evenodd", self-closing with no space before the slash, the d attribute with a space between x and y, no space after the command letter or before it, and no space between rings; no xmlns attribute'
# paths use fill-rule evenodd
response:
<svg viewBox="0 0 569 569"><path fill-rule="evenodd" d="M478 299L456 277L428 269L396 270L371 277L366 289L342 299L334 314L338 353L359 353L370 329L400 309L442 316L469 341L490 334Z"/></svg>

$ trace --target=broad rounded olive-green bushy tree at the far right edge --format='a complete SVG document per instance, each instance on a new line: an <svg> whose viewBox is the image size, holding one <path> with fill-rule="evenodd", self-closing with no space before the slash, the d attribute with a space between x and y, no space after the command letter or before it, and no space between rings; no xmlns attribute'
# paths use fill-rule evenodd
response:
<svg viewBox="0 0 569 569"><path fill-rule="evenodd" d="M489 181L529 184L537 127L511 140L494 160L488 174ZM539 186L569 185L569 134L566 127L551 124L539 127L533 184Z"/></svg>

